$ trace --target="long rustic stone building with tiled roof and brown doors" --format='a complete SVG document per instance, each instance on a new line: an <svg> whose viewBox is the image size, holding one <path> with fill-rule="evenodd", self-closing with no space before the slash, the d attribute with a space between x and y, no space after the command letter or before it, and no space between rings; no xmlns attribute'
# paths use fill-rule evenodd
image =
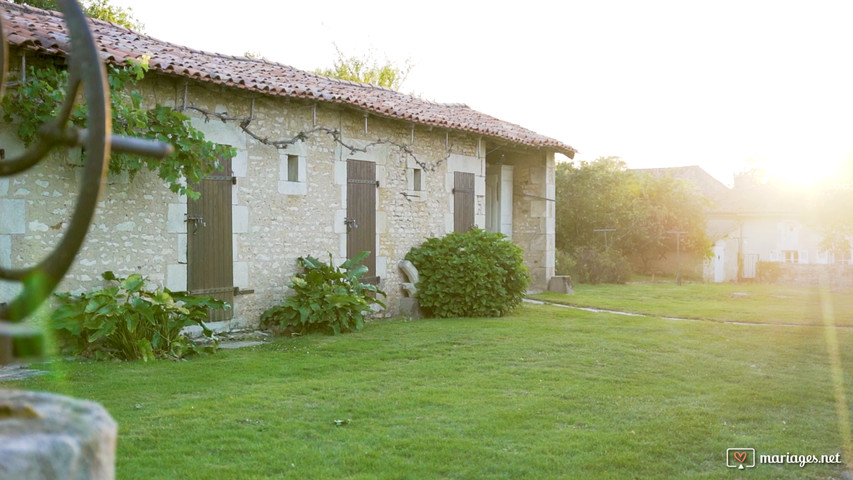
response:
<svg viewBox="0 0 853 480"><path fill-rule="evenodd" d="M68 55L61 16L0 3L13 76ZM192 50L99 20L91 28L105 62L150 56L140 83L147 105L182 110L237 155L198 201L152 172L110 177L60 291L97 286L106 270L140 273L173 290L224 295L233 318L220 326L251 325L287 293L298 257L331 254L337 263L370 250L368 275L393 314L405 281L397 262L428 237L472 225L523 248L533 288L554 275L554 156L573 156L569 145L465 105ZM14 130L0 131L7 156L23 148ZM79 157L60 152L0 179L2 264L32 264L56 244ZM0 300L14 293L0 286Z"/></svg>

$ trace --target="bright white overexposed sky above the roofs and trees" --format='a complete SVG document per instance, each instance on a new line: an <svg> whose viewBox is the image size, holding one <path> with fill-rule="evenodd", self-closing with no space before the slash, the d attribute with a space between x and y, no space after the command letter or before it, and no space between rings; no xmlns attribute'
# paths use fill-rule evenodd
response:
<svg viewBox="0 0 853 480"><path fill-rule="evenodd" d="M795 183L853 172L847 0L110 3L211 52L304 70L331 66L335 45L409 61L402 91L556 138L575 161L699 165L728 185L751 167Z"/></svg>

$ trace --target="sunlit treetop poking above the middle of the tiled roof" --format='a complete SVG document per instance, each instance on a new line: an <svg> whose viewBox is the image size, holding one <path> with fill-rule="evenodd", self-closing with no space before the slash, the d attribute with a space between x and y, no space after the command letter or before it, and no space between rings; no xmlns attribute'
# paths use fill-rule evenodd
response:
<svg viewBox="0 0 853 480"><path fill-rule="evenodd" d="M372 53L362 56L347 56L335 45L338 58L331 68L318 68L314 73L326 77L340 78L358 83L369 83L399 90L406 81L412 65L409 60L398 66L388 60L377 60Z"/></svg>

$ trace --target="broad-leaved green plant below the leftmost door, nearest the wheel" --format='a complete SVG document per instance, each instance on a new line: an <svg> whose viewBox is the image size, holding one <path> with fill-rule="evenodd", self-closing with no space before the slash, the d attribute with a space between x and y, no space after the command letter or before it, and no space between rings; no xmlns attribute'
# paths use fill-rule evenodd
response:
<svg viewBox="0 0 853 480"><path fill-rule="evenodd" d="M61 306L50 317L66 350L95 358L122 360L180 359L203 349L181 334L184 327L204 324L208 310L229 308L211 297L196 297L166 288L147 290L139 274L117 278L113 272L102 277L115 285L80 295L57 293Z"/></svg>

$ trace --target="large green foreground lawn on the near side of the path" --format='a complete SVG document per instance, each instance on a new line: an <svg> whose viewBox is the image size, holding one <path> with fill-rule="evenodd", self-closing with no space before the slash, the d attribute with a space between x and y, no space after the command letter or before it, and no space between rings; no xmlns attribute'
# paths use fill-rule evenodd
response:
<svg viewBox="0 0 853 480"><path fill-rule="evenodd" d="M848 329L525 305L186 362L55 362L2 387L101 402L121 479L825 479L841 467L739 472L726 449L853 461L851 346Z"/></svg>

